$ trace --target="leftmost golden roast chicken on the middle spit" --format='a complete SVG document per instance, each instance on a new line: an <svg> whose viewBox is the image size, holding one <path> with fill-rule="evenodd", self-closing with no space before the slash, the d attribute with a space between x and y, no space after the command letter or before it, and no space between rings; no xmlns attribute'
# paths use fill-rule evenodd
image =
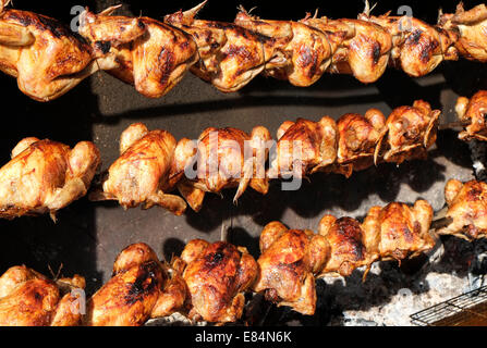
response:
<svg viewBox="0 0 487 348"><path fill-rule="evenodd" d="M0 169L0 217L56 212L83 197L100 163L90 141L73 149L48 139L24 138Z"/></svg>

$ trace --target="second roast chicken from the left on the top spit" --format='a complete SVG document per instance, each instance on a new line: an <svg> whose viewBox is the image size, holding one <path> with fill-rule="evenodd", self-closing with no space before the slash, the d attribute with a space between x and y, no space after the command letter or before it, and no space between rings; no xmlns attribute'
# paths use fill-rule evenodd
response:
<svg viewBox="0 0 487 348"><path fill-rule="evenodd" d="M196 62L196 44L183 30L149 17L112 16L118 8L85 11L80 34L92 42L104 70L146 97L162 97Z"/></svg>

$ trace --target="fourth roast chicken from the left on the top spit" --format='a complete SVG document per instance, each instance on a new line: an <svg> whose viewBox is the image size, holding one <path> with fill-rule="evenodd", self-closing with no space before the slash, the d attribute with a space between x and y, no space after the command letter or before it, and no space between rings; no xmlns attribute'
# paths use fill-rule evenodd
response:
<svg viewBox="0 0 487 348"><path fill-rule="evenodd" d="M266 61L265 74L288 79L294 86L306 87L318 80L337 49L327 33L307 23L260 20L242 8L234 23L271 38L268 45L273 49L273 57Z"/></svg>

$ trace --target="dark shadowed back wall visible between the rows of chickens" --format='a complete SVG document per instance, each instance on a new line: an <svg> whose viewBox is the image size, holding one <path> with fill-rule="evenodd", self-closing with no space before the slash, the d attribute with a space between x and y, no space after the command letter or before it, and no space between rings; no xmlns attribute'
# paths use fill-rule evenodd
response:
<svg viewBox="0 0 487 348"><path fill-rule="evenodd" d="M74 4L100 11L118 1L22 1L14 7L46 14L69 24ZM194 1L124 1L122 13L161 18L165 14L197 4ZM200 18L232 21L236 7L256 7L253 13L263 18L300 20L319 8L320 15L356 17L363 1L215 1L209 0ZM374 14L389 10L395 13L407 4L416 17L435 23L438 9L454 11L450 1L380 1ZM476 2L465 1L470 8ZM178 139L196 138L207 126L234 126L251 130L261 124L275 134L284 120L299 116L319 120L345 112L365 112L378 107L383 112L415 99L425 99L443 110L442 122L454 120L452 108L459 95L471 96L486 87L486 69L467 61L445 62L431 75L413 79L402 72L388 70L372 85L362 85L351 76L326 75L308 88L285 82L257 77L241 91L224 95L190 73L168 96L150 100L127 85L98 73L65 96L49 103L39 103L22 95L15 79L0 75L3 127L0 128L1 163L9 160L11 149L27 136L50 138L74 146L80 140L94 140L101 150L106 170L118 156L120 133L132 122L145 122L149 128L166 128ZM90 203L86 198L59 213L54 224L48 216L0 221L2 244L0 273L14 264L54 273L63 265L65 276L86 276L88 290L106 282L117 253L130 243L148 243L162 257L181 251L187 240L216 240L226 229L230 241L245 245L258 254L258 235L272 220L281 220L297 228L316 229L325 213L339 216L364 216L375 203L391 200L414 201L428 198L436 210L442 204L442 187L450 177L471 177L468 148L456 139L456 133L441 132L438 148L427 162L405 163L397 169L383 165L354 174L351 179L338 175L316 175L297 192L281 191L271 186L261 197L251 189L239 206L231 203L233 191L224 198L209 195L198 214L187 211L172 216L158 208L148 211L123 211L115 203Z"/></svg>

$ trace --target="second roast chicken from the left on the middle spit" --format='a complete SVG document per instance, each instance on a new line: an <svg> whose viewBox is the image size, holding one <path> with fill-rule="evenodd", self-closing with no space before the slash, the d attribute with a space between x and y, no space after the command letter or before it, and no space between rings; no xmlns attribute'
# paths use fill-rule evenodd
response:
<svg viewBox="0 0 487 348"><path fill-rule="evenodd" d="M108 170L102 191L94 191L92 200L118 200L123 208L143 204L144 209L160 206L176 215L186 209L169 184L176 141L166 130L148 130L142 123L130 125L120 137L120 158Z"/></svg>

